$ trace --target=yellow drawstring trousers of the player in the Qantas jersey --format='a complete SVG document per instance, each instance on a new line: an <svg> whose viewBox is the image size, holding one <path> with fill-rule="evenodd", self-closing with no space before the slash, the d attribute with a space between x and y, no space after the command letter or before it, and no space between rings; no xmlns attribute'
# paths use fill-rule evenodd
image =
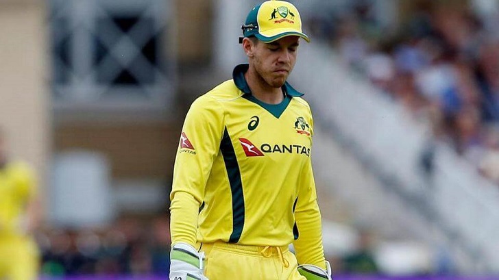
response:
<svg viewBox="0 0 499 280"><path fill-rule="evenodd" d="M247 246L226 242L198 244L206 254L204 275L210 280L306 280L287 246Z"/></svg>

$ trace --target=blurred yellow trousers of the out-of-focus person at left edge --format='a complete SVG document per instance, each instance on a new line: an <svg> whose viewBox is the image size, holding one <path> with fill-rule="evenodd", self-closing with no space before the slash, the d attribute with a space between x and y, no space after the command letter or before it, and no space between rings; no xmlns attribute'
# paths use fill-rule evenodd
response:
<svg viewBox="0 0 499 280"><path fill-rule="evenodd" d="M25 236L0 237L0 279L34 280L38 274L38 249Z"/></svg>

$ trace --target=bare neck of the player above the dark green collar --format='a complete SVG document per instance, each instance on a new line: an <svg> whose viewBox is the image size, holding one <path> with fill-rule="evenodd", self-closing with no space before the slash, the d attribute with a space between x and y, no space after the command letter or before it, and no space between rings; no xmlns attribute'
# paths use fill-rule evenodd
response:
<svg viewBox="0 0 499 280"><path fill-rule="evenodd" d="M254 68L249 67L248 71L244 74L246 82L249 89L252 91L252 95L267 104L279 104L284 99L284 94L282 94L282 88L273 88L260 77Z"/></svg>

